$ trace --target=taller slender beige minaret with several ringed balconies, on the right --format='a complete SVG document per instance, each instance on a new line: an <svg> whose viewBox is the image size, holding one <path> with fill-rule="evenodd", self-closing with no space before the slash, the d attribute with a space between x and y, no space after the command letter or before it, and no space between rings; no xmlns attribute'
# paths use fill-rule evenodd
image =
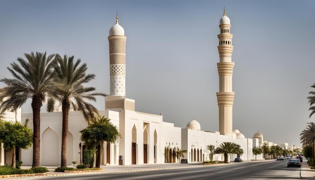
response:
<svg viewBox="0 0 315 180"><path fill-rule="evenodd" d="M232 134L232 110L234 92L232 92L232 74L234 62L232 62L232 37L230 34L230 21L225 16L220 19L220 34L218 35L218 51L220 62L217 63L219 73L219 92L216 93L219 106L219 131L220 134Z"/></svg>

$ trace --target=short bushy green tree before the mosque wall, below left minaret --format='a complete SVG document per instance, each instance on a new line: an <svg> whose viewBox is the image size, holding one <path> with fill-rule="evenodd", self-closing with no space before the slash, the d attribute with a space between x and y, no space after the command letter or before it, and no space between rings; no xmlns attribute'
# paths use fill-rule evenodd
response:
<svg viewBox="0 0 315 180"><path fill-rule="evenodd" d="M104 142L115 143L120 134L109 118L98 116L92 119L92 123L81 132L81 140L88 149L97 149L96 167L101 165L101 149ZM93 164L91 164L93 166Z"/></svg>

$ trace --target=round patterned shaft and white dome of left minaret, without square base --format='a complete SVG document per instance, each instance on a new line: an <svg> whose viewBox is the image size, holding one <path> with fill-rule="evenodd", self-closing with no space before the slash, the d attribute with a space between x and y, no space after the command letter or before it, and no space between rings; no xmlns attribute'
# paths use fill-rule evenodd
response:
<svg viewBox="0 0 315 180"><path fill-rule="evenodd" d="M118 24L114 25L108 36L109 64L110 64L110 96L126 96L126 36L124 29Z"/></svg>

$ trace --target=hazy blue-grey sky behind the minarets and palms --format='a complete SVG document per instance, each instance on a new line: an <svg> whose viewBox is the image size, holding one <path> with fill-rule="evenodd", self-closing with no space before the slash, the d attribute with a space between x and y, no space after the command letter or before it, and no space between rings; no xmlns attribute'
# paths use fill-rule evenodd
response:
<svg viewBox="0 0 315 180"><path fill-rule="evenodd" d="M107 37L118 11L127 37L126 97L136 111L163 113L182 128L195 118L201 130L218 131L224 7L234 46L233 129L299 145L315 120L306 99L315 91L315 1L0 0L0 78L12 77L7 67L24 53L74 55L96 75L87 85L109 94ZM104 97L94 105L104 110Z"/></svg>

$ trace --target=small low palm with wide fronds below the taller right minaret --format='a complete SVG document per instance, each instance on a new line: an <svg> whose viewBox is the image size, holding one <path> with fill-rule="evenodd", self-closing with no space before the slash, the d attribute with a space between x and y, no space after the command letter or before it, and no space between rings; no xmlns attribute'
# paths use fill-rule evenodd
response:
<svg viewBox="0 0 315 180"><path fill-rule="evenodd" d="M224 163L229 163L229 154L243 154L244 151L237 143L223 142L222 144L220 144L220 147L216 148L215 153L224 154Z"/></svg>

